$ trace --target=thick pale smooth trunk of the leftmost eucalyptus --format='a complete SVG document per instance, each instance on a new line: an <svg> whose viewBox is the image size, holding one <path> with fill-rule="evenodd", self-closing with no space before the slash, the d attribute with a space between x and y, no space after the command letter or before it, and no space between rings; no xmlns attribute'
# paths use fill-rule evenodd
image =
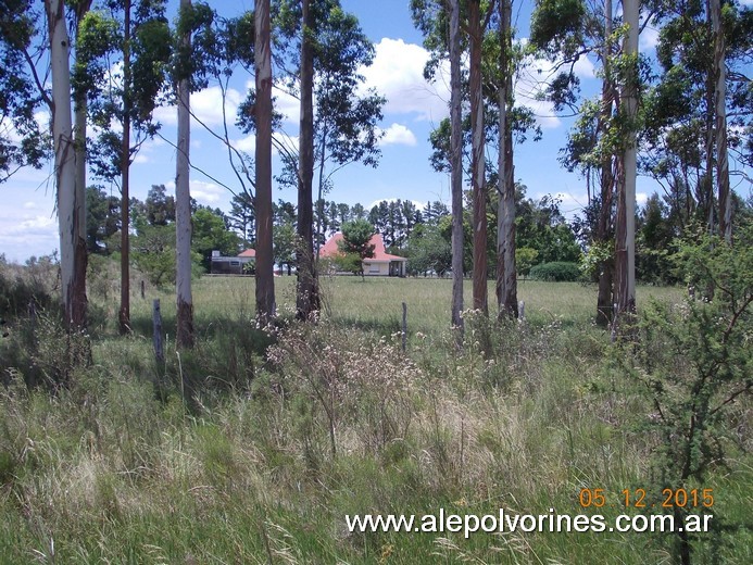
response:
<svg viewBox="0 0 753 565"><path fill-rule="evenodd" d="M52 72L52 139L54 145L58 222L60 227L60 273L63 315L67 327L75 325L76 155L71 114L70 40L63 0L46 0Z"/></svg>

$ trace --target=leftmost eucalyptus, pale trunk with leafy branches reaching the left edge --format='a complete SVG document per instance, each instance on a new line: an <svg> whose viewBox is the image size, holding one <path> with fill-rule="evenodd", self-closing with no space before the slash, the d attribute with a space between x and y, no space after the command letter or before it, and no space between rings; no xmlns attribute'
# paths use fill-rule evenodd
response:
<svg viewBox="0 0 753 565"><path fill-rule="evenodd" d="M35 112L51 114L54 186L60 234L63 316L68 329L86 325L86 179L80 139L74 139L71 109L71 37L88 2L9 0L0 10L0 183L25 165L41 166L49 138ZM80 138L76 133L76 138Z"/></svg>

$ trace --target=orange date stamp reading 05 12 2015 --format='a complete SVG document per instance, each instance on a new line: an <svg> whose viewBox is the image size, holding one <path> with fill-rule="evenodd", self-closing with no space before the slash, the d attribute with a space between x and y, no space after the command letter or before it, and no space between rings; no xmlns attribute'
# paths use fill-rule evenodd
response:
<svg viewBox="0 0 753 565"><path fill-rule="evenodd" d="M619 493L606 489L580 489L578 502L583 508L622 506L626 508L711 508L714 506L714 489L663 489L652 495L647 489L623 489Z"/></svg>

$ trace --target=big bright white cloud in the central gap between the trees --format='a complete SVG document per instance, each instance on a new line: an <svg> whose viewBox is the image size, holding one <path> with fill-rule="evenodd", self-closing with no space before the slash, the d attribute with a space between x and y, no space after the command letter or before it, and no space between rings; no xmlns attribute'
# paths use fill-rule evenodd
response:
<svg viewBox="0 0 753 565"><path fill-rule="evenodd" d="M439 70L431 84L424 79L429 53L421 46L402 39L384 38L376 45L372 66L360 70L366 88L376 88L387 98L386 114L416 114L439 122L445 117L450 100L449 72Z"/></svg>

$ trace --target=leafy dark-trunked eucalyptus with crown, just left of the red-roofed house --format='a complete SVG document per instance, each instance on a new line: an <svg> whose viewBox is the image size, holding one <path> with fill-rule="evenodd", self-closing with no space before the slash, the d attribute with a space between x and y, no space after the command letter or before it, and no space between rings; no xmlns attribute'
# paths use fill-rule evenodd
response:
<svg viewBox="0 0 753 565"><path fill-rule="evenodd" d="M283 148L287 168L280 181L298 188L297 310L306 319L319 309L313 244L315 173L317 201L324 201L341 167L377 164L377 123L385 99L372 89L360 93L364 77L359 68L372 63L374 46L339 0L277 0L273 11L278 30L275 59L284 72L278 84L300 101L299 148L297 153Z"/></svg>

